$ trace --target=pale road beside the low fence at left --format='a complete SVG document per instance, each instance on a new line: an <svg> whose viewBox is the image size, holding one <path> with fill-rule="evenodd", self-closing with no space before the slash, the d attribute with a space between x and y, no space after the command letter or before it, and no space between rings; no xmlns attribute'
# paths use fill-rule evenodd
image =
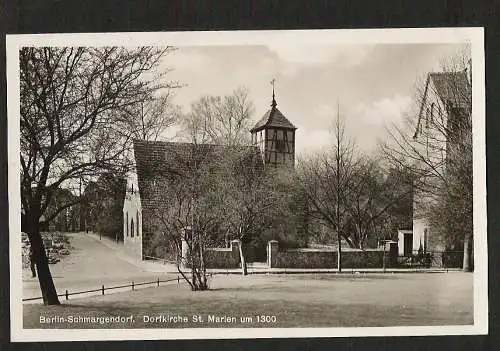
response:
<svg viewBox="0 0 500 351"><path fill-rule="evenodd" d="M71 254L50 265L59 294L63 294L65 290L71 293L98 289L103 284L105 287L117 286L132 281L139 283L177 276L166 272L153 273L139 262L132 263L134 260L125 256L119 246L113 248L105 238L100 241L97 236L84 233L69 233L68 236L72 246ZM41 296L38 279L31 278L29 268L23 269L23 298L38 296Z"/></svg>

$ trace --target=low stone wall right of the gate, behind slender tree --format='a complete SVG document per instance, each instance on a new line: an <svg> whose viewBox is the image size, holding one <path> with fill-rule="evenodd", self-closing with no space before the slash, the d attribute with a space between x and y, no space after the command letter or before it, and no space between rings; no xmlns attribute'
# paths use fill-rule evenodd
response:
<svg viewBox="0 0 500 351"><path fill-rule="evenodd" d="M273 240L268 243L267 253L271 268L337 268L337 251L331 248L280 250L278 242ZM384 254L378 249L349 249L342 252L342 268L382 268L384 256L386 268L391 268L395 260L391 260L390 255L389 250Z"/></svg>

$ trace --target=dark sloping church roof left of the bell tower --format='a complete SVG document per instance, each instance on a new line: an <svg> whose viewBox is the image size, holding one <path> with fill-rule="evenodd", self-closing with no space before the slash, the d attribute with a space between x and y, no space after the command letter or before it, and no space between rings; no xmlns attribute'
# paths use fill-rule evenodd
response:
<svg viewBox="0 0 500 351"><path fill-rule="evenodd" d="M195 165L213 167L216 171L217 155L228 149L241 152L247 167L262 167L257 146L224 146L162 141L134 140L134 157L141 205L145 209L157 209L164 205L155 196L156 180L176 180L188 174ZM210 170L212 171L212 169Z"/></svg>

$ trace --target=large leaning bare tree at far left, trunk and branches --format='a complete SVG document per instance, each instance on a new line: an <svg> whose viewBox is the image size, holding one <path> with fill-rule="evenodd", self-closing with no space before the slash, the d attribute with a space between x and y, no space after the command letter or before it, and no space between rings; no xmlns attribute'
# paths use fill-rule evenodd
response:
<svg viewBox="0 0 500 351"><path fill-rule="evenodd" d="M168 50L27 47L19 52L23 224L44 304L59 300L40 219L58 188L103 171L126 170L132 135L120 111L168 88L144 78ZM46 220L72 205L61 204Z"/></svg>

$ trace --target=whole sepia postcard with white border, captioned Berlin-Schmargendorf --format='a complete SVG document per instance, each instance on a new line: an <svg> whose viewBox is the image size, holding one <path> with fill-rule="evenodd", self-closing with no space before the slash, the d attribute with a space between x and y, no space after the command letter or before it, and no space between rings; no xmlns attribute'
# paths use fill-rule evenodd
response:
<svg viewBox="0 0 500 351"><path fill-rule="evenodd" d="M14 341L485 334L482 28L7 35Z"/></svg>

